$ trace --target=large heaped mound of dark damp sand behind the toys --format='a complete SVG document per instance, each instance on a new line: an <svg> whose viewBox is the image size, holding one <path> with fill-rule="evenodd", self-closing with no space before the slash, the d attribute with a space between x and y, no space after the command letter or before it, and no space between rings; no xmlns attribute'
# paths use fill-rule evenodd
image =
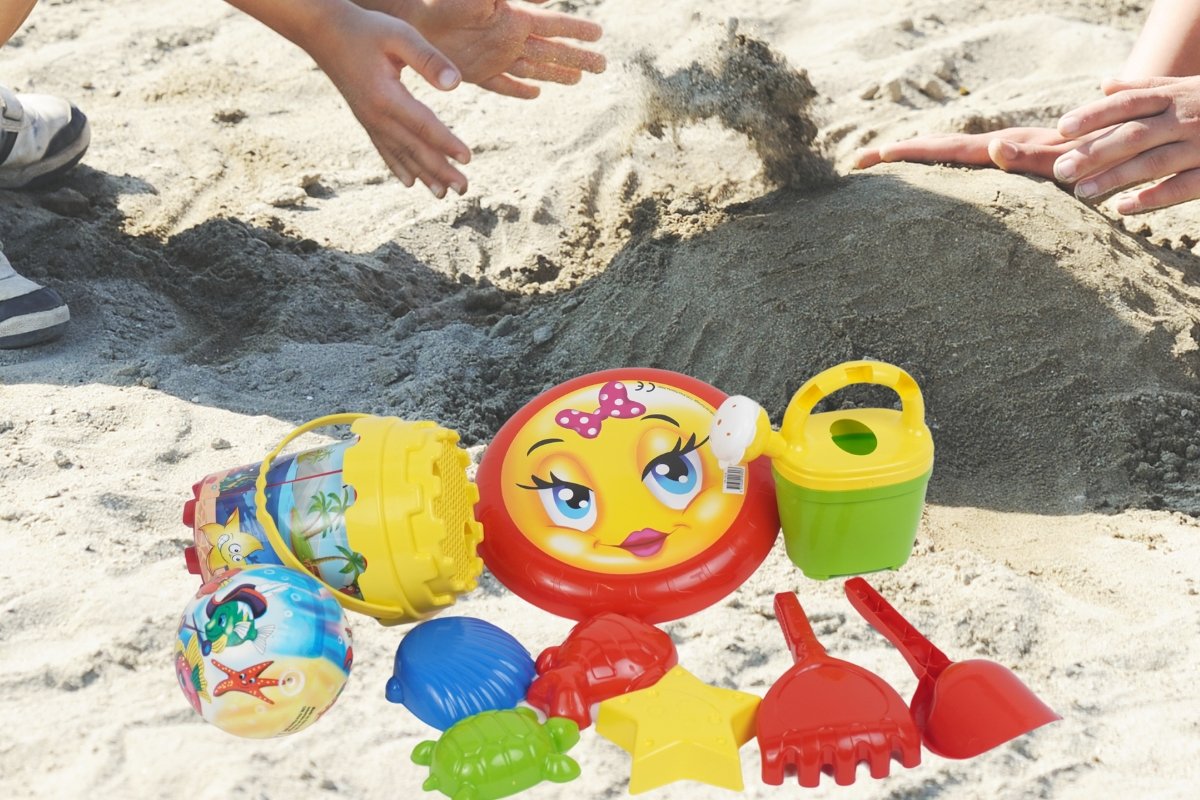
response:
<svg viewBox="0 0 1200 800"><path fill-rule="evenodd" d="M820 369L894 361L926 395L940 503L1200 512L1196 260L1164 261L1054 186L944 176L780 193L688 239L664 210L570 299L546 357L691 372L776 422Z"/></svg>

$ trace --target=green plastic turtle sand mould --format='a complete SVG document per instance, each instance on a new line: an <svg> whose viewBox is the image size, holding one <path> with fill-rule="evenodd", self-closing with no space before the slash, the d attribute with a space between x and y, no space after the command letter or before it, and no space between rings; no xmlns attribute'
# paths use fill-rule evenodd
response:
<svg viewBox="0 0 1200 800"><path fill-rule="evenodd" d="M541 783L565 783L580 776L568 750L580 740L570 720L539 724L526 708L484 711L456 723L437 741L422 741L413 762L430 768L421 784L454 800L494 800Z"/></svg>

